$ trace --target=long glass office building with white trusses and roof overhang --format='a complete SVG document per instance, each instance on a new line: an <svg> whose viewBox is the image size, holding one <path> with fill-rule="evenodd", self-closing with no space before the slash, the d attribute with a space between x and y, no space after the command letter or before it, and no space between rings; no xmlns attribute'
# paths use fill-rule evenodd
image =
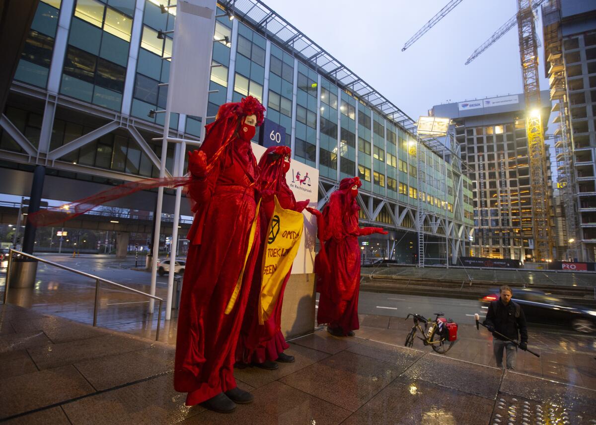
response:
<svg viewBox="0 0 596 425"><path fill-rule="evenodd" d="M160 5L174 4L40 1L1 122L0 166L43 163L48 174L100 184L157 176L164 114L150 111L166 107L175 34L160 32L176 18ZM223 103L259 98L294 159L319 169L319 207L358 175L362 223L390 230L363 246L367 258L414 262L418 208L432 223L427 239L445 241L430 257L468 254L472 188L452 154L417 141L412 119L262 2L218 7L207 122ZM198 139L201 126L170 119L174 137ZM174 155L169 147L169 172Z"/></svg>

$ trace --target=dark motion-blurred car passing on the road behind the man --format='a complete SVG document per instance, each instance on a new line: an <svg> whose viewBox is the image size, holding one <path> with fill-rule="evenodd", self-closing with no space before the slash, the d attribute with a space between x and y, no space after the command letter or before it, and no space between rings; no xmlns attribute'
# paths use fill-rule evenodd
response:
<svg viewBox="0 0 596 425"><path fill-rule="evenodd" d="M492 289L480 299L488 303L499 299L499 290ZM526 320L548 325L566 325L581 333L596 331L596 307L574 305L561 298L535 289L513 288L512 299L522 306Z"/></svg>

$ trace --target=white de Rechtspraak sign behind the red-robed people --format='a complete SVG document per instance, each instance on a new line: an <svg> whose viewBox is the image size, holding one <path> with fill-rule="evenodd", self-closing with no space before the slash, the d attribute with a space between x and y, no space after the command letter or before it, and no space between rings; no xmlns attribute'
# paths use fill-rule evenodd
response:
<svg viewBox="0 0 596 425"><path fill-rule="evenodd" d="M265 148L253 142L253 153L259 162L259 158L265 153ZM285 175L285 181L294 193L297 201L311 200L309 207L316 208L319 199L319 170L303 164L295 159L291 160L290 170ZM300 240L300 248L292 274L312 273L315 265L315 241L316 241L316 219L304 210L304 231Z"/></svg>

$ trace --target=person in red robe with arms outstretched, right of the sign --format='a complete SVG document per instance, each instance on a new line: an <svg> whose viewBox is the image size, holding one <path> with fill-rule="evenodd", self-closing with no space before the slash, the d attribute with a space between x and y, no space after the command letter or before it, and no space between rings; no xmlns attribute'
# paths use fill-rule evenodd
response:
<svg viewBox="0 0 596 425"><path fill-rule="evenodd" d="M387 234L380 227L359 227L356 202L358 177L344 178L323 212L307 208L316 215L317 235L321 243L315 258L316 291L320 293L316 321L327 324L334 336L353 336L359 329L358 293L360 256L358 237L373 233Z"/></svg>

